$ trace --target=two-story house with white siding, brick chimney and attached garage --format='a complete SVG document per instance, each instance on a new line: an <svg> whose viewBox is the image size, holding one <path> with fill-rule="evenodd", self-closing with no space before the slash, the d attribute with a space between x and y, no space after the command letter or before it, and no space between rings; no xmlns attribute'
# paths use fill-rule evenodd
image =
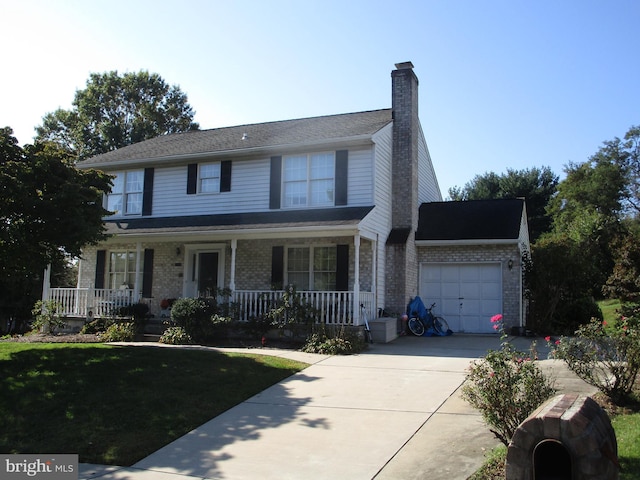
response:
<svg viewBox="0 0 640 480"><path fill-rule="evenodd" d="M413 65L397 64L391 79L391 108L165 135L80 162L116 176L105 198L111 237L84 249L73 294L47 295L70 314L100 315L120 295L157 316L163 299L227 288L247 319L267 292L295 285L329 323L359 324L360 304L400 315L420 294L449 305L439 313L456 331L490 331L483 321L495 313L522 324L520 280L509 275L528 245L524 202L505 219L515 239L430 238L420 206L450 202L420 126ZM474 248L483 253L456 253ZM427 279L467 263L481 276L491 265L497 283L465 317L460 290L452 303L444 292L455 289Z"/></svg>

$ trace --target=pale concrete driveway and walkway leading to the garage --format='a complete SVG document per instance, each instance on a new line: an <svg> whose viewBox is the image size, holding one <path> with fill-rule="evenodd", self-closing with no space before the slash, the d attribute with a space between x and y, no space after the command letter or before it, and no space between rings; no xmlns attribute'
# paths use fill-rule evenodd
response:
<svg viewBox="0 0 640 480"><path fill-rule="evenodd" d="M400 337L352 356L250 350L310 366L132 467L83 464L79 478L466 479L498 441L460 387L469 363L499 345L497 336L453 335ZM594 392L560 362L541 364L561 392Z"/></svg>

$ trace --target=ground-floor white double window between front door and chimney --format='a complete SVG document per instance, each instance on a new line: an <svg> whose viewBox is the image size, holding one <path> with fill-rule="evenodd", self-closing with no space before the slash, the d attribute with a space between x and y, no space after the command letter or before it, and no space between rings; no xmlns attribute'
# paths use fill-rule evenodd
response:
<svg viewBox="0 0 640 480"><path fill-rule="evenodd" d="M298 290L335 290L336 247L289 247L286 283Z"/></svg>

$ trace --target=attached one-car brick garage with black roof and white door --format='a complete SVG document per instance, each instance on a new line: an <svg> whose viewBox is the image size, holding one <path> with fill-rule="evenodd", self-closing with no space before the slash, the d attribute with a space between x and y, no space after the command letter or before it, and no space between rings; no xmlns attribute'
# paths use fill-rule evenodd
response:
<svg viewBox="0 0 640 480"><path fill-rule="evenodd" d="M454 332L495 334L525 325L522 256L529 250L523 199L433 202L420 206L418 288Z"/></svg>

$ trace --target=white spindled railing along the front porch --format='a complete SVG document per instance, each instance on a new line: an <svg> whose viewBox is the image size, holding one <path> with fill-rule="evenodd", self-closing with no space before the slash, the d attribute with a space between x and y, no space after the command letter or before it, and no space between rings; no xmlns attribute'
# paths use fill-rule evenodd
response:
<svg viewBox="0 0 640 480"><path fill-rule="evenodd" d="M238 320L247 321L266 315L284 291L236 290L231 301L238 305ZM319 321L328 325L360 325L360 307L355 305L355 292L298 291L302 301L310 303L319 313ZM108 317L136 301L132 289L51 288L49 300L61 305L60 314L69 317ZM358 292L369 318L375 318L371 292ZM153 313L153 312L152 312ZM159 313L159 312L155 312ZM355 319L355 322L354 322Z"/></svg>

